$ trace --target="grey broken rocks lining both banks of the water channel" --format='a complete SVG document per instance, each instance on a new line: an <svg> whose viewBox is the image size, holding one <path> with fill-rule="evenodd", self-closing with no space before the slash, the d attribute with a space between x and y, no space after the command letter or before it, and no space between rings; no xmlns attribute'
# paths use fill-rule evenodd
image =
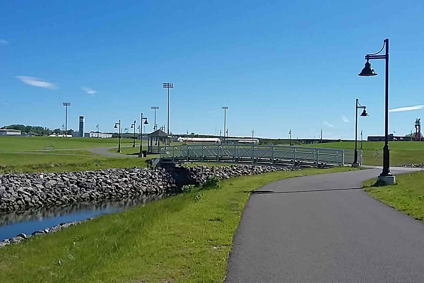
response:
<svg viewBox="0 0 424 283"><path fill-rule="evenodd" d="M168 168L124 168L73 173L22 173L0 175L0 212L36 210L44 207L67 207L70 204L110 199L131 198L139 195L162 195L181 192L184 185L201 185L208 178L227 179L242 175L256 175L292 168L272 166L175 166ZM297 169L300 170L300 169ZM89 218L91 219L91 218ZM0 248L19 243L36 235L57 232L88 221L73 221L21 233L0 241Z"/></svg>

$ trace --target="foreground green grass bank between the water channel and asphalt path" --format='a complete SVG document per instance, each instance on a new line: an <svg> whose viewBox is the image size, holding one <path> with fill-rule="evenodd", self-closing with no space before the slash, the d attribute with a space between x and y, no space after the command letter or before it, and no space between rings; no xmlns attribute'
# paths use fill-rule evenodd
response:
<svg viewBox="0 0 424 283"><path fill-rule="evenodd" d="M307 169L224 180L0 249L1 282L222 282L250 191Z"/></svg>

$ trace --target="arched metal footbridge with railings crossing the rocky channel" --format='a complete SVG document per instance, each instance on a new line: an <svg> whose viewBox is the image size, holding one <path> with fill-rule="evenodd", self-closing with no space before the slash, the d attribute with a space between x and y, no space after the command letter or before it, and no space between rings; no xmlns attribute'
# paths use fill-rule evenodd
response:
<svg viewBox="0 0 424 283"><path fill-rule="evenodd" d="M192 144L162 147L161 164L184 162L237 163L285 167L336 167L350 165L354 150L271 145ZM362 165L362 150L358 150Z"/></svg>

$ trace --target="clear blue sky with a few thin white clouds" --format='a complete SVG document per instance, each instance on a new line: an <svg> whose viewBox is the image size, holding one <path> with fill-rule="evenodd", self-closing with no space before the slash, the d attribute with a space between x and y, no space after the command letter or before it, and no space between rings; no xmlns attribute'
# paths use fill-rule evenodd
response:
<svg viewBox="0 0 424 283"><path fill-rule="evenodd" d="M7 3L10 2L10 3ZM384 133L384 60L360 77L364 54L390 38L390 108L424 105L421 1L2 1L0 125L112 131L153 128L229 135L354 138ZM296 3L295 3L296 2ZM346 2L346 3L342 3ZM34 79L35 78L35 79ZM38 80L37 80L38 79ZM95 93L93 92L95 91ZM424 109L390 113L407 134Z"/></svg>

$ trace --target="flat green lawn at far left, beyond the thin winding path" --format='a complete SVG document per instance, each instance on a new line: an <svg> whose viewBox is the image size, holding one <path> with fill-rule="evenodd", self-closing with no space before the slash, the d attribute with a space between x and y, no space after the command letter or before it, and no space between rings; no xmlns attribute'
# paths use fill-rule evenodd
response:
<svg viewBox="0 0 424 283"><path fill-rule="evenodd" d="M44 150L46 145L53 145L54 149L72 149L89 147L111 147L118 144L118 139L97 138L60 138L46 136L2 136L0 137L1 151ZM121 139L121 144L132 144L131 139Z"/></svg>

